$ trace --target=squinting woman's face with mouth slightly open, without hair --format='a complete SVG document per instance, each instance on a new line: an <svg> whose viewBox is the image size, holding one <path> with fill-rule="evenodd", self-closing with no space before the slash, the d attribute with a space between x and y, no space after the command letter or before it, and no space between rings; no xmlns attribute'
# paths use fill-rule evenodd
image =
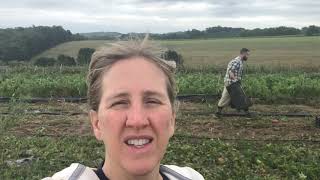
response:
<svg viewBox="0 0 320 180"><path fill-rule="evenodd" d="M141 57L122 60L104 74L101 92L91 121L105 144L106 161L131 175L154 171L174 133L164 73Z"/></svg>

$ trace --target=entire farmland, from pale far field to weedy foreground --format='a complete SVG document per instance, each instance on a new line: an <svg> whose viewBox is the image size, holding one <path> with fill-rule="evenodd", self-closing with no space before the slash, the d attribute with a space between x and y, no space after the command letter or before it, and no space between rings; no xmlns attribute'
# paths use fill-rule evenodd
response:
<svg viewBox="0 0 320 180"><path fill-rule="evenodd" d="M186 66L176 73L178 95L185 97L162 163L191 166L208 180L317 179L319 40L317 36L161 41L179 51ZM64 43L39 56L75 57L82 47L108 42ZM243 46L254 47L242 84L254 101L250 111L257 114L216 117L225 66ZM40 179L73 162L91 167L101 163L103 144L92 135L87 105L54 100L85 97L86 71L81 66L0 68L0 97L9 99L0 99L1 180ZM53 100L21 101L30 98ZM236 113L231 108L224 111ZM306 116L285 115L290 113Z"/></svg>

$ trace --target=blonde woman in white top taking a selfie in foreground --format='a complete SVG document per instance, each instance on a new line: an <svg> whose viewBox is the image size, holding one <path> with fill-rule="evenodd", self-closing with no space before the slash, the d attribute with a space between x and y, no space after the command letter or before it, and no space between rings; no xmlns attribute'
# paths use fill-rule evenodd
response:
<svg viewBox="0 0 320 180"><path fill-rule="evenodd" d="M98 169L80 164L47 179L204 179L189 167L161 165L175 129L174 68L147 37L96 51L88 73L90 119L105 145Z"/></svg>

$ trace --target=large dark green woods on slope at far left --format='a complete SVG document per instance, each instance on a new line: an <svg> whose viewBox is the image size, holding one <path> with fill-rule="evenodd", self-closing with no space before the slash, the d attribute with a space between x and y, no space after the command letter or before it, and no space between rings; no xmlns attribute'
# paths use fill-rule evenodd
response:
<svg viewBox="0 0 320 180"><path fill-rule="evenodd" d="M32 26L0 29L0 60L28 61L38 53L71 40L83 40L61 26Z"/></svg>

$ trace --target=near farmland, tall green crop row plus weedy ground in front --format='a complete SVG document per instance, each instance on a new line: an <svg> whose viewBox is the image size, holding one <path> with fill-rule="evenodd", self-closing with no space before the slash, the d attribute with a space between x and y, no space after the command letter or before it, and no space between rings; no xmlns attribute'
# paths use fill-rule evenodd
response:
<svg viewBox="0 0 320 180"><path fill-rule="evenodd" d="M0 169L4 170L0 179L39 179L72 162L95 167L102 161L103 146L91 133L85 103L17 101L31 97L85 96L84 69L75 72L40 69L36 73L2 75L1 94L6 92L12 100L0 104ZM182 100L176 133L163 163L192 166L206 179L314 179L319 176L320 130L314 122L320 114L319 75L262 74L258 78L253 75L249 74L244 81L248 83L245 88L261 100L251 111L304 112L310 116L217 118L214 116L217 99ZM221 81L222 77L215 73L177 74L180 95L220 93ZM286 88L284 82L291 88ZM276 89L277 93L271 93ZM303 93L307 89L309 93ZM302 92L301 102L294 100L298 92ZM285 98L280 101L280 97ZM89 146L95 149L93 153ZM23 158L31 161L15 163ZM30 173L31 176L26 176Z"/></svg>

